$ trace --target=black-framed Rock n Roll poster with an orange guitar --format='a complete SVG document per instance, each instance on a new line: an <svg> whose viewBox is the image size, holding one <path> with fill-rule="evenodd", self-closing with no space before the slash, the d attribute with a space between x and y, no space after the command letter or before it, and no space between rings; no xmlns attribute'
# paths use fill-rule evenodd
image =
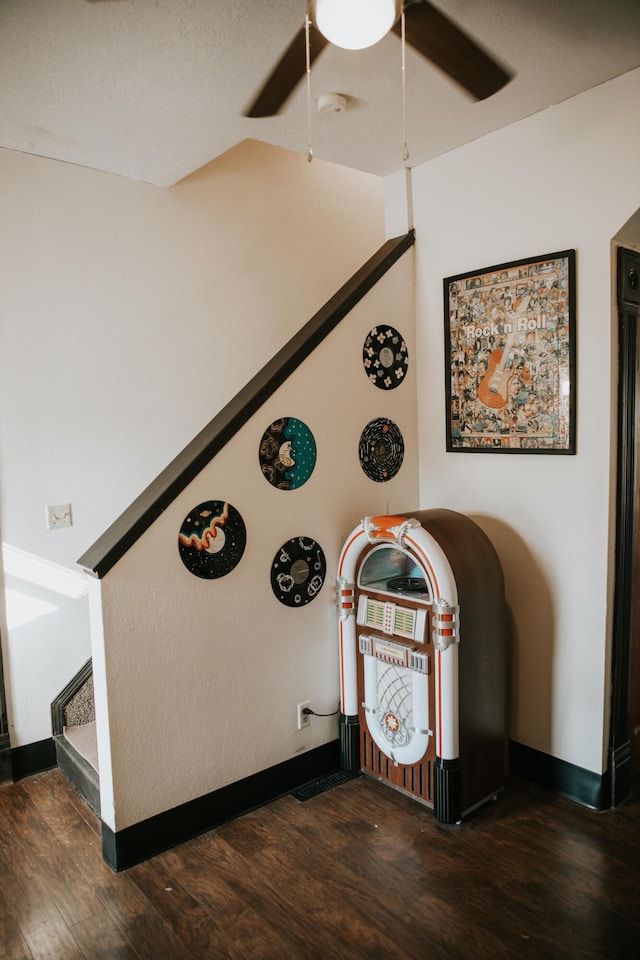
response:
<svg viewBox="0 0 640 960"><path fill-rule="evenodd" d="M576 452L575 250L444 280L447 450Z"/></svg>

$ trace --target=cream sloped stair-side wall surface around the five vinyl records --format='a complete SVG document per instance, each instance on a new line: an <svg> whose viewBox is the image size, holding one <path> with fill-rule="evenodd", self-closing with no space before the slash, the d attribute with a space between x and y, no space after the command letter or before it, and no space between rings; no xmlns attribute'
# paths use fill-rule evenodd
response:
<svg viewBox="0 0 640 960"><path fill-rule="evenodd" d="M344 539L368 514L415 509L417 486L413 256L387 273L233 440L100 581L96 678L102 816L123 828L288 760L338 736L337 717L297 730L296 704L339 705L336 572ZM389 392L371 384L364 340L376 324L406 334L409 373ZM260 440L282 416L314 434L316 466L302 487L262 476ZM367 478L358 440L374 417L400 427L405 459L386 483ZM228 500L247 545L227 576L202 580L178 554L193 507ZM289 539L322 547L327 576L308 605L281 604L271 564ZM96 604L98 606L98 604ZM104 681L104 682L103 682Z"/></svg>

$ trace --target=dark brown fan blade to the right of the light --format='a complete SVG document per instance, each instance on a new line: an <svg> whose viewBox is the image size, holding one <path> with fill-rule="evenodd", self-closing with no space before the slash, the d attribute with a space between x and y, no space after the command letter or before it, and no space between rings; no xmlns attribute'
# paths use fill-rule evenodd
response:
<svg viewBox="0 0 640 960"><path fill-rule="evenodd" d="M401 35L401 21L393 29ZM405 37L476 100L485 100L511 80L510 73L428 0L406 5Z"/></svg>

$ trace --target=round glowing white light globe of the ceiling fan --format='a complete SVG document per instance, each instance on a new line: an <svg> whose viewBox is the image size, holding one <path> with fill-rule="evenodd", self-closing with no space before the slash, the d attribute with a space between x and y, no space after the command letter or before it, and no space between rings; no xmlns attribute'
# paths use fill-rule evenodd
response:
<svg viewBox="0 0 640 960"><path fill-rule="evenodd" d="M312 0L311 19L329 43L345 50L372 47L391 30L402 0Z"/></svg>

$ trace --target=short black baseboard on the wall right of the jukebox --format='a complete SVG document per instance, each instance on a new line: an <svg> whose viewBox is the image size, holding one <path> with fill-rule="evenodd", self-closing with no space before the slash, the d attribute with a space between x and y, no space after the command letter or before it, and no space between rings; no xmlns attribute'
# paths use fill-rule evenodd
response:
<svg viewBox="0 0 640 960"><path fill-rule="evenodd" d="M594 773L515 740L509 741L509 766L511 773L516 776L534 780L586 807L594 810L608 810L611 807L609 771Z"/></svg>

